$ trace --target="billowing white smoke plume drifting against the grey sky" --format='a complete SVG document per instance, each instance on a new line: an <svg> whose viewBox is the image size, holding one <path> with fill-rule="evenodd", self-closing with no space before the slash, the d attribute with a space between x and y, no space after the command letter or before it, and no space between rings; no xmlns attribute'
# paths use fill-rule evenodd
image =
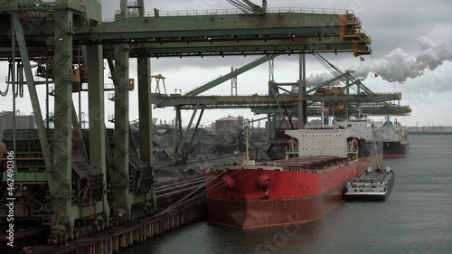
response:
<svg viewBox="0 0 452 254"><path fill-rule="evenodd" d="M367 78L369 73L375 72L383 80L403 83L434 71L445 61L452 61L452 48L447 39L433 41L427 36L419 36L419 52L410 56L400 48L384 56L384 60L374 66L363 64L355 69L353 76Z"/></svg>

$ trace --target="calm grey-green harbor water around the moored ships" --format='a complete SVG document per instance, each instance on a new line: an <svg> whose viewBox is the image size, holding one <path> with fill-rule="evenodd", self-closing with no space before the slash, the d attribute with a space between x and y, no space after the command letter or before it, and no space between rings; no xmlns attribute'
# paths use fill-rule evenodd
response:
<svg viewBox="0 0 452 254"><path fill-rule="evenodd" d="M198 222L131 247L138 253L451 253L452 135L411 135L386 202L342 202L318 221L266 230Z"/></svg>

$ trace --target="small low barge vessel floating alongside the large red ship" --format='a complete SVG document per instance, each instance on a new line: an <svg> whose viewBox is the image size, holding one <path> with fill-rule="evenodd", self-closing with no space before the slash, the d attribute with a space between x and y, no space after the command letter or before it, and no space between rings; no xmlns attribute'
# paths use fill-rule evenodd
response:
<svg viewBox="0 0 452 254"><path fill-rule="evenodd" d="M372 170L368 168L360 177L347 183L344 192L345 201L386 201L394 184L395 174L390 167Z"/></svg>

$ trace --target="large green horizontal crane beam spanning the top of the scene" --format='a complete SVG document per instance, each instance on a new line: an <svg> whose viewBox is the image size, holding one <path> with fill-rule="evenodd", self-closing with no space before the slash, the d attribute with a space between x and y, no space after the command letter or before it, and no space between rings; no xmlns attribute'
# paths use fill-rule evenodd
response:
<svg viewBox="0 0 452 254"><path fill-rule="evenodd" d="M69 1L71 2L71 1ZM25 31L31 57L42 56L54 33L56 14L71 7L60 5L19 5L26 16L22 22L33 29ZM2 13L0 9L0 18ZM233 13L233 14L230 14ZM297 52L353 52L369 54L370 38L362 33L361 22L345 10L302 8L269 9L266 14L224 14L217 11L147 13L120 18L114 22L91 22L76 13L71 26L74 46L103 44L105 52L126 43L130 56L201 56L228 54L271 54ZM33 15L39 16L39 23ZM8 57L11 43L7 27L0 27L0 58ZM354 34L355 36L350 36Z"/></svg>

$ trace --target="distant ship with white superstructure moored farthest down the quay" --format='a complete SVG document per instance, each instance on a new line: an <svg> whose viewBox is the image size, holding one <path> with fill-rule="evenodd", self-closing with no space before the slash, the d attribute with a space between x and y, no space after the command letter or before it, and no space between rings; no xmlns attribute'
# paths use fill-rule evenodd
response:
<svg viewBox="0 0 452 254"><path fill-rule="evenodd" d="M400 158L409 154L410 139L407 136L407 128L402 127L397 119L392 122L389 117L386 117L376 132L383 142L384 158Z"/></svg>

